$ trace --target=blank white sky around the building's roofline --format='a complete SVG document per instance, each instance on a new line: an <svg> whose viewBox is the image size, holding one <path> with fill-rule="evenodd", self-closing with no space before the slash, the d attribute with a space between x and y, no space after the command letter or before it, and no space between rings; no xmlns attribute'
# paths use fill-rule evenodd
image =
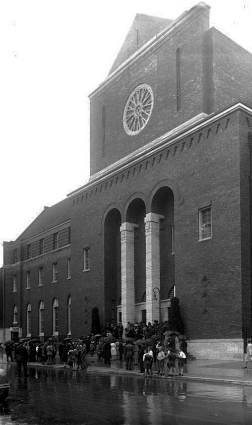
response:
<svg viewBox="0 0 252 425"><path fill-rule="evenodd" d="M0 1L0 266L3 240L88 180L88 94L108 74L135 15L176 19L197 3ZM210 26L252 52L252 0L206 3Z"/></svg>

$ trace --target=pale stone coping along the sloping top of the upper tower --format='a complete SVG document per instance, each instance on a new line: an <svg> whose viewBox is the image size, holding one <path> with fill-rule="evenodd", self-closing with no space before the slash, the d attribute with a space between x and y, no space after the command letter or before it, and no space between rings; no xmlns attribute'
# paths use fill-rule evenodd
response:
<svg viewBox="0 0 252 425"><path fill-rule="evenodd" d="M200 12L202 12L203 9L209 11L210 6L204 2L199 3L189 11L184 12L167 28L163 29L157 35L147 41L147 43L145 43L139 50L137 50L127 60L125 60L115 71L107 76L107 78L89 95L90 100L103 91L106 86L108 86L114 79L118 78L126 69L132 65L135 65L136 63L141 62L143 57L148 55L153 49L156 49L157 46L163 43L168 37L172 36L174 31L176 31L181 26L184 26L186 21L194 19Z"/></svg>

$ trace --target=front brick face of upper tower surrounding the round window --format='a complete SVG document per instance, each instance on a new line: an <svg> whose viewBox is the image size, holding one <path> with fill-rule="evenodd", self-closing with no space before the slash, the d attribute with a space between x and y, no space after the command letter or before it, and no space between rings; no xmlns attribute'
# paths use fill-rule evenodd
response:
<svg viewBox="0 0 252 425"><path fill-rule="evenodd" d="M203 111L202 37L209 26L208 11L196 10L168 39L137 65L128 67L109 87L91 98L91 175ZM176 49L181 49L181 110L176 110ZM148 124L135 136L122 127L124 105L139 84L154 93ZM102 107L105 106L105 156L102 156Z"/></svg>

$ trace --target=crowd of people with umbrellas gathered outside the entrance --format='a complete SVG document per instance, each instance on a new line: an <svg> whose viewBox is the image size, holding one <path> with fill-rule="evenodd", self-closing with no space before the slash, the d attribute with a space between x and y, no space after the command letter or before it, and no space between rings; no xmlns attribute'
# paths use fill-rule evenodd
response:
<svg viewBox="0 0 252 425"><path fill-rule="evenodd" d="M105 365L110 365L114 360L124 361L126 370L132 370L133 366L139 365L140 373L150 376L152 363L157 361L158 373L163 376L165 359L168 361L170 374L176 358L178 366L183 366L187 356L187 344L185 339L179 339L178 332L167 331L167 322L161 324L161 335L159 330L157 321L153 324L129 322L125 329L121 323L107 323L100 334L81 336L76 341L65 338L58 343L54 337L46 342L23 338L19 342L7 344L5 351L7 361L17 362L19 376L22 365L25 376L28 376L27 362L37 361L42 365L54 365L57 352L64 367L73 370L87 369L87 354L91 362L96 354L97 361L104 361ZM0 344L0 360L3 360L3 351ZM180 373L183 374L182 369Z"/></svg>

